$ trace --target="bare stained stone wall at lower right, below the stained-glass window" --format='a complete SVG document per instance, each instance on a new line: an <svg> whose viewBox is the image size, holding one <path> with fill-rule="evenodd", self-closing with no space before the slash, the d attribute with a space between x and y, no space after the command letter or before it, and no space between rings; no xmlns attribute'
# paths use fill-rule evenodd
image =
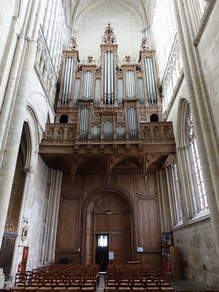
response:
<svg viewBox="0 0 219 292"><path fill-rule="evenodd" d="M183 277L217 290L219 262L210 219L174 231L173 238L179 247Z"/></svg>

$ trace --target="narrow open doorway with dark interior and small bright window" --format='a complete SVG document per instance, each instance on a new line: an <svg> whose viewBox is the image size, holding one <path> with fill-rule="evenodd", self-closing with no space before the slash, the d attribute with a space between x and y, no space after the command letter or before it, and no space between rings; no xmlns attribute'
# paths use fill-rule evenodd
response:
<svg viewBox="0 0 219 292"><path fill-rule="evenodd" d="M96 264L100 265L100 272L106 272L109 263L109 236L96 234Z"/></svg>

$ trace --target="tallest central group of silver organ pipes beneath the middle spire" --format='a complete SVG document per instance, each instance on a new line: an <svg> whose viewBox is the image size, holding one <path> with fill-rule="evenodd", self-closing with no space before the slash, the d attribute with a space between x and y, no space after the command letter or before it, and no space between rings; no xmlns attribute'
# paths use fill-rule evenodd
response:
<svg viewBox="0 0 219 292"><path fill-rule="evenodd" d="M114 104L114 53L104 53L104 104Z"/></svg>

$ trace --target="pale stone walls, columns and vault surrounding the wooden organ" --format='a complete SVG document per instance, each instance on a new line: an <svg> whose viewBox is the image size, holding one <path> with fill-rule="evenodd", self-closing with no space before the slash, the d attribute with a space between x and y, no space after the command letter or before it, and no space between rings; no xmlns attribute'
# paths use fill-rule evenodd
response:
<svg viewBox="0 0 219 292"><path fill-rule="evenodd" d="M175 164L156 173L161 233L173 232L184 278L219 289L219 1L166 0L162 1L163 11L160 2L48 0L51 6L44 13L44 0L0 1L0 243L9 206L11 225L18 234L10 280L22 260L24 246L29 247L26 270L54 263L62 172L55 166L48 167L38 148L46 135L46 123L55 121L60 85L56 82L60 81L62 67L55 75L46 45L48 36L40 22L52 11L57 20L55 11L63 5L62 48L65 50L69 38L75 36L80 62L84 59L86 63L92 55L97 65L101 36L108 22L119 44L121 63L126 56L138 62L143 37L156 48L163 104L168 97L163 114L167 122L173 123L177 149ZM158 19L161 23L155 23ZM45 28L49 33L53 33L55 20ZM60 38L61 29L64 27L54 34L54 42ZM159 35L162 42L157 39ZM179 49L175 63L169 55L174 40ZM57 60L58 53L54 58ZM180 82L173 80L174 72ZM208 204L203 210L191 154L190 113ZM21 240L24 220L28 221L26 241ZM140 254L134 259L142 261ZM1 288L3 285L0 269Z"/></svg>

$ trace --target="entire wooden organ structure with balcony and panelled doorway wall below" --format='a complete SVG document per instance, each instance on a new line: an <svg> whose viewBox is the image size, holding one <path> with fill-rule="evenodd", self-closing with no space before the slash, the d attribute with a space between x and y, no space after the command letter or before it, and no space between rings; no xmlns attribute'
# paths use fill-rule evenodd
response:
<svg viewBox="0 0 219 292"><path fill-rule="evenodd" d="M61 257L99 263L98 240L106 236L112 263L161 266L156 173L174 159L173 126L162 121L155 51L147 38L138 62L129 56L121 62L117 47L108 24L97 64L92 57L80 62L74 37L63 51L55 124L46 124L39 146L46 164L63 173L57 263Z"/></svg>

